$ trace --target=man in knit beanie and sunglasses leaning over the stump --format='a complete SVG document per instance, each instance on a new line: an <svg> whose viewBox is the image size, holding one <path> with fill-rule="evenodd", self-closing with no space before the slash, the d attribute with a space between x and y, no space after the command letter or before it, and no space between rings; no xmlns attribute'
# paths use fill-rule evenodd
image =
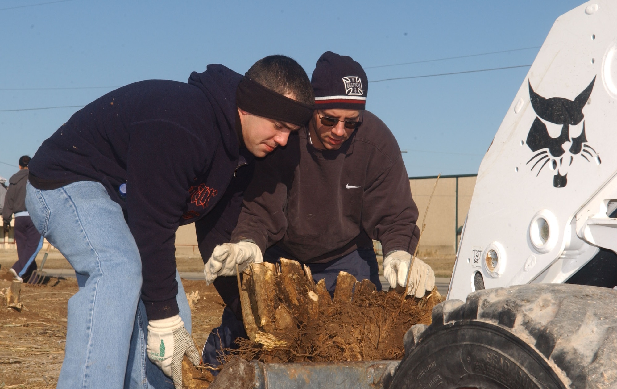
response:
<svg viewBox="0 0 617 389"><path fill-rule="evenodd" d="M368 279L381 290L373 243L381 241L384 276L405 285L419 228L418 208L394 135L365 111L368 79L351 57L325 52L312 75L315 111L309 124L289 136L288 146L255 166L254 180L231 243L212 259L242 270L249 262L280 257L307 265L315 282L325 278L334 293L340 271ZM263 255L262 255L263 253ZM227 304L221 327L210 334L202 358L218 364L222 349L246 337L233 272L206 272ZM216 278L216 280L215 280ZM433 269L415 259L408 295L433 290Z"/></svg>

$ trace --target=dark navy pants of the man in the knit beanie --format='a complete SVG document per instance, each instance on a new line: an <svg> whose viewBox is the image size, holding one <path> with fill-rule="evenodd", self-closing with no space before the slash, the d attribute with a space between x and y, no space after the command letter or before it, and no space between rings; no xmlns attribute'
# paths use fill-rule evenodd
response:
<svg viewBox="0 0 617 389"><path fill-rule="evenodd" d="M275 245L266 250L263 261L276 263L280 262L281 257L290 256L286 251ZM357 280L370 280L375 284L377 290L381 290L379 266L375 251L372 248L359 248L346 256L325 264L307 264L307 266L309 266L315 282L325 278L326 290L329 291L331 296L334 296L336 277L341 271L354 275ZM225 353L223 350L238 348L235 343L237 338L247 338L242 322L237 278L235 276L219 277L215 280L214 286L226 305L223 310L221 325L210 332L202 349L201 358L204 364L210 366L220 365L219 360L223 358ZM217 371L212 373L218 374Z"/></svg>

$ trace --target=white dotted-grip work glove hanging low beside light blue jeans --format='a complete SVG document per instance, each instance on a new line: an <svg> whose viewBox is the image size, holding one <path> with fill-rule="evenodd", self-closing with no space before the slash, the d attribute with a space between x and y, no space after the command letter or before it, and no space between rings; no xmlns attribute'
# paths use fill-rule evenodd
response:
<svg viewBox="0 0 617 389"><path fill-rule="evenodd" d="M152 363L159 366L165 375L172 377L176 389L182 389L184 354L194 365L201 363L195 342L178 315L167 319L149 320L146 353Z"/></svg>

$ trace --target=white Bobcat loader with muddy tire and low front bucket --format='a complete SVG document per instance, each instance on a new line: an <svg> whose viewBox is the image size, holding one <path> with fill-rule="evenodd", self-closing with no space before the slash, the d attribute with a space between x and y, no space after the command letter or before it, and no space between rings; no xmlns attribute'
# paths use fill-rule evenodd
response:
<svg viewBox="0 0 617 389"><path fill-rule="evenodd" d="M617 388L616 149L617 0L593 0L555 21L516 93L447 300L402 361L246 362L212 389Z"/></svg>

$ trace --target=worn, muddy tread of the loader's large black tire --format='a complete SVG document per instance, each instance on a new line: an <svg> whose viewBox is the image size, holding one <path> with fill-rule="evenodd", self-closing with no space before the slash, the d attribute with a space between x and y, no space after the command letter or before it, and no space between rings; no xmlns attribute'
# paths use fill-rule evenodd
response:
<svg viewBox="0 0 617 389"><path fill-rule="evenodd" d="M571 388L617 387L617 290L533 284L471 293L433 309L429 327L405 335L405 357L446 324L474 320L506 328L542 354Z"/></svg>

